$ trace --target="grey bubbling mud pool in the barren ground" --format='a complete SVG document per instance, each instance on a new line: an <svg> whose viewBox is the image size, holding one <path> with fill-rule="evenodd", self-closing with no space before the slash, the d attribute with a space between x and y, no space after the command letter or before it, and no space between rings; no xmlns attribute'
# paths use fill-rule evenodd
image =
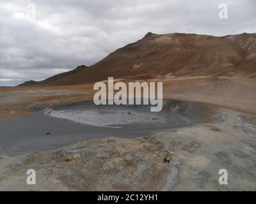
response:
<svg viewBox="0 0 256 204"><path fill-rule="evenodd" d="M150 105L96 106L93 101L55 106L0 122L0 152L36 152L109 136L134 138L209 120L200 103L164 100L162 112Z"/></svg>

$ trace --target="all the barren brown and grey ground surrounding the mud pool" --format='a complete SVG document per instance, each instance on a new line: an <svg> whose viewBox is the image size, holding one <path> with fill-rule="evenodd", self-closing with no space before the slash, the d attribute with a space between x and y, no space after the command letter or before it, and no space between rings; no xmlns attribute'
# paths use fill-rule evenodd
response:
<svg viewBox="0 0 256 204"><path fill-rule="evenodd" d="M0 190L256 190L255 80L161 80L164 98L213 105L211 122L145 138L87 140L33 154L1 152ZM6 87L0 89L0 119L92 99L92 94L92 85ZM29 168L36 170L35 186L26 184ZM225 186L218 184L222 168L228 171Z"/></svg>

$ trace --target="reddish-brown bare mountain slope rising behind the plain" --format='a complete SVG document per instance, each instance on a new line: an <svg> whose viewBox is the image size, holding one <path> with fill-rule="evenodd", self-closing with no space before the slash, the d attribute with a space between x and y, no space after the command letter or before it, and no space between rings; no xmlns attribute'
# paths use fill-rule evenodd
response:
<svg viewBox="0 0 256 204"><path fill-rule="evenodd" d="M41 82L20 85L74 85L115 78L223 76L256 78L256 34L222 37L153 34L119 48L90 67L78 66Z"/></svg>

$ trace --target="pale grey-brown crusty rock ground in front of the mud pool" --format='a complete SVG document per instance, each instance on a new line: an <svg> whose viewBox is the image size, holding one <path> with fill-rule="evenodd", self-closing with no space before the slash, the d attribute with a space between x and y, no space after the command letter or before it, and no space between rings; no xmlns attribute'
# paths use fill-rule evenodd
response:
<svg viewBox="0 0 256 204"><path fill-rule="evenodd" d="M255 191L256 117L216 108L212 122L144 138L87 140L0 156L0 190ZM36 185L26 171L36 170ZM218 171L228 171L220 185Z"/></svg>

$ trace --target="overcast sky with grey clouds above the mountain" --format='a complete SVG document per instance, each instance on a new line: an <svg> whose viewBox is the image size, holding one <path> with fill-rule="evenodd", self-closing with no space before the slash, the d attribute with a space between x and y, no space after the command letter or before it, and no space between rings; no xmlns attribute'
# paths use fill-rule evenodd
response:
<svg viewBox="0 0 256 204"><path fill-rule="evenodd" d="M255 9L255 0L0 0L0 85L92 65L149 31L256 33Z"/></svg>

